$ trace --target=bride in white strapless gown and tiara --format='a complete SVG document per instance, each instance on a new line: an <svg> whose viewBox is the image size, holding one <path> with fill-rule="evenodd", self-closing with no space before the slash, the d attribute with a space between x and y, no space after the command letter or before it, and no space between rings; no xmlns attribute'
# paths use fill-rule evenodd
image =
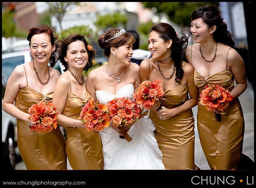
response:
<svg viewBox="0 0 256 188"><path fill-rule="evenodd" d="M87 90L94 100L107 104L110 100L128 97L133 100L134 88L141 82L139 66L131 63L134 37L124 29L111 28L98 38L100 48L109 58L108 64L88 74ZM116 126L105 128L100 134L104 155L104 170L164 170L162 152L154 137L155 126L147 116L126 127L132 141L119 138Z"/></svg>

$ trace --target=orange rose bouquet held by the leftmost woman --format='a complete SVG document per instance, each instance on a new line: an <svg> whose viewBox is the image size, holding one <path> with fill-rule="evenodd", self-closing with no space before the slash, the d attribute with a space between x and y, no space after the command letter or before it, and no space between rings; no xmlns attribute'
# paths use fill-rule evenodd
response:
<svg viewBox="0 0 256 188"><path fill-rule="evenodd" d="M52 102L42 101L34 104L28 112L30 114L28 120L34 124L30 126L31 130L45 133L57 128L58 111Z"/></svg>

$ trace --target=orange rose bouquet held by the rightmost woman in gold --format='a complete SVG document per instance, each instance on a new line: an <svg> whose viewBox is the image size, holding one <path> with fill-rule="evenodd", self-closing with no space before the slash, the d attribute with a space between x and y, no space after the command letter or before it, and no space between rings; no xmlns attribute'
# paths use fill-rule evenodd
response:
<svg viewBox="0 0 256 188"><path fill-rule="evenodd" d="M218 109L223 112L232 100L233 97L229 90L225 90L218 84L208 84L205 86L205 89L202 90L198 104L206 106L208 111L214 112L215 109ZM214 115L215 120L221 122L220 114L214 112Z"/></svg>

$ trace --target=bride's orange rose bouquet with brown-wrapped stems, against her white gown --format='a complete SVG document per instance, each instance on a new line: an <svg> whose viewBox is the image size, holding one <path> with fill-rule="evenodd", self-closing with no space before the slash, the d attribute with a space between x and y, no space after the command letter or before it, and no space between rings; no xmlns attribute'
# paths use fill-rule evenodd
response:
<svg viewBox="0 0 256 188"><path fill-rule="evenodd" d="M128 99L127 97L114 98L108 102L108 110L110 112L109 119L112 120L114 126L118 126L123 136L128 142L132 140L130 135L126 132L124 126L138 121L141 114L141 109L137 106L136 102Z"/></svg>

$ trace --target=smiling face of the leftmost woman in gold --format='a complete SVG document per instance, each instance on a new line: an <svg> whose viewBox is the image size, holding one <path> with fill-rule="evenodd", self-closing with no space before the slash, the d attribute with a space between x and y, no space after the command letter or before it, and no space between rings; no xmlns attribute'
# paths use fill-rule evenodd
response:
<svg viewBox="0 0 256 188"><path fill-rule="evenodd" d="M47 34L35 34L31 37L30 50L35 62L48 63L55 45L52 46Z"/></svg>

